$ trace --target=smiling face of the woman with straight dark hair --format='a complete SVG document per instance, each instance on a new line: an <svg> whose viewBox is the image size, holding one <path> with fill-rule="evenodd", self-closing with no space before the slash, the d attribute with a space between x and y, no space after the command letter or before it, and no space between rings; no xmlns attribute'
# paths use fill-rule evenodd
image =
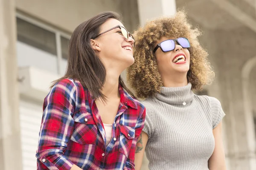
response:
<svg viewBox="0 0 256 170"><path fill-rule="evenodd" d="M108 19L102 24L100 33L107 31L116 26L123 26L123 24L116 19ZM131 37L126 39L122 35L120 27L114 28L95 39L98 45L99 57L105 64L106 68L117 67L121 71L128 68L134 63L133 44L134 40Z"/></svg>

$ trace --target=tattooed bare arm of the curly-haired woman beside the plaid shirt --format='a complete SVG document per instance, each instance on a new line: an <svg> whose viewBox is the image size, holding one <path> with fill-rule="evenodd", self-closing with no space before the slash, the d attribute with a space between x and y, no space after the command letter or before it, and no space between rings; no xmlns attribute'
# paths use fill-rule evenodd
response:
<svg viewBox="0 0 256 170"><path fill-rule="evenodd" d="M145 147L148 142L148 135L145 132L141 132L139 139L137 140L136 144L136 151L135 151L135 170L140 170L143 160L143 155L145 152Z"/></svg>

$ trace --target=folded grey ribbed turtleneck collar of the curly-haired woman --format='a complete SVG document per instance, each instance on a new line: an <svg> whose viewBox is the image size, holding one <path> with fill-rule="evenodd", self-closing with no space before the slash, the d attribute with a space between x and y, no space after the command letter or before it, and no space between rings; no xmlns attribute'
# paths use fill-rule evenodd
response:
<svg viewBox="0 0 256 170"><path fill-rule="evenodd" d="M191 87L192 85L190 82L188 85L183 87L161 87L161 93L158 93L156 98L161 102L165 102L169 105L179 105L186 107L190 105L194 98L194 93L191 90ZM186 102L185 106L183 106L183 102Z"/></svg>

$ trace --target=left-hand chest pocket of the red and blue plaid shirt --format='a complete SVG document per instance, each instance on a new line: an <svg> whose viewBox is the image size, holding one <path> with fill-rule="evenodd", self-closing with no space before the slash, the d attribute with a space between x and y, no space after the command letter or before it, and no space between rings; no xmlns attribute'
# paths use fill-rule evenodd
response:
<svg viewBox="0 0 256 170"><path fill-rule="evenodd" d="M79 144L95 144L98 128L93 115L86 111L78 112L73 119L75 122L74 131L70 140Z"/></svg>

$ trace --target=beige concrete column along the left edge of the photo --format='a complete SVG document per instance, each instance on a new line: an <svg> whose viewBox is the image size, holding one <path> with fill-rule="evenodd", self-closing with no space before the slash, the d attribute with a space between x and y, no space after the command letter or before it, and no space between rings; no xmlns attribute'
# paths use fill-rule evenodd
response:
<svg viewBox="0 0 256 170"><path fill-rule="evenodd" d="M22 170L15 0L0 0L0 170Z"/></svg>

